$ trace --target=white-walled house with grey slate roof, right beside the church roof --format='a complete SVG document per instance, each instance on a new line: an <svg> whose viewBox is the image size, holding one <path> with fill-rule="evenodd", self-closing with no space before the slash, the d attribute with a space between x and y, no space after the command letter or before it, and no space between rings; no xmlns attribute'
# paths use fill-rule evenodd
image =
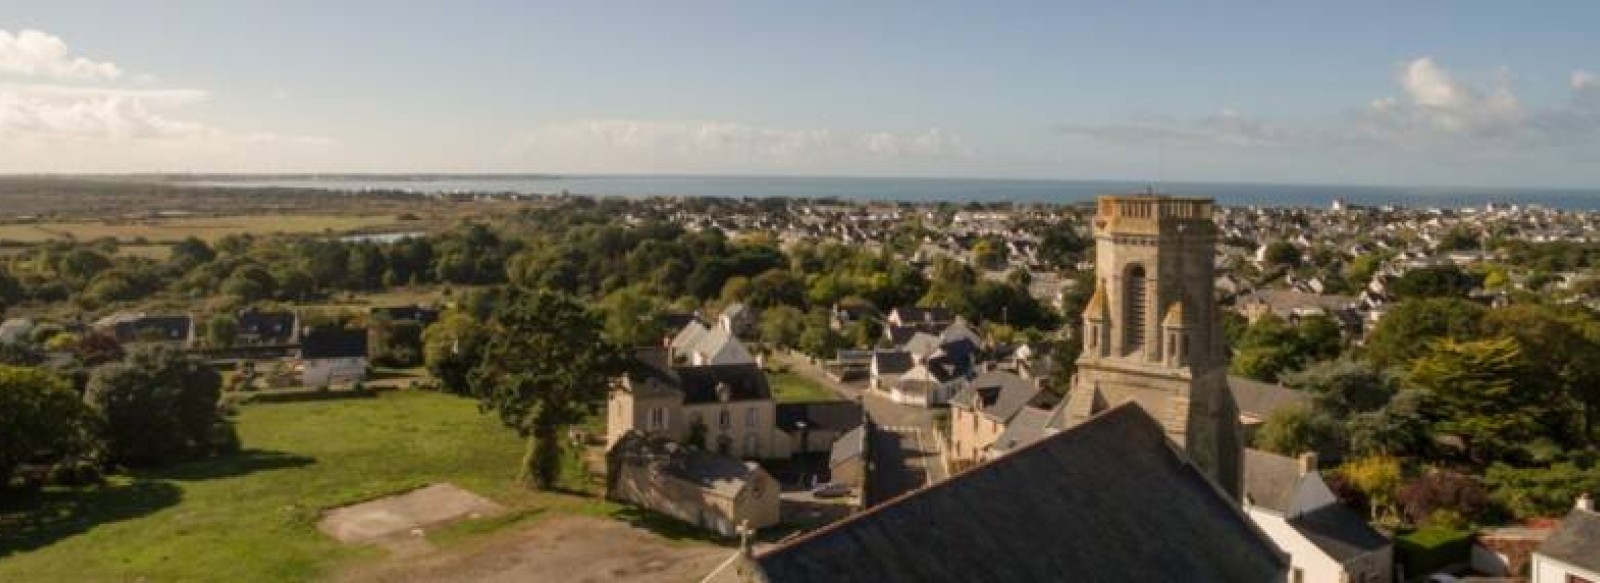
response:
<svg viewBox="0 0 1600 583"><path fill-rule="evenodd" d="M1245 513L1290 554L1290 583L1394 580L1394 543L1339 505L1312 453L1245 450Z"/></svg>

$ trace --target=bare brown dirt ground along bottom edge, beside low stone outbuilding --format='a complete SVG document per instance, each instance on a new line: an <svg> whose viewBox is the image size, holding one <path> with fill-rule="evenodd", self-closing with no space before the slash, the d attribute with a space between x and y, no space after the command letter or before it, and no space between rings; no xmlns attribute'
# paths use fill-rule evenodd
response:
<svg viewBox="0 0 1600 583"><path fill-rule="evenodd" d="M698 581L733 549L669 543L650 530L587 516L555 516L464 549L392 556L334 577L341 583Z"/></svg>

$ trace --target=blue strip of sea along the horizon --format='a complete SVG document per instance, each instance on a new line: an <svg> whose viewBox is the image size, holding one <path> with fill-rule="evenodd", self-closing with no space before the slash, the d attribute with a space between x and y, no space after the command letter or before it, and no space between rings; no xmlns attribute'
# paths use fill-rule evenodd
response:
<svg viewBox="0 0 1600 583"><path fill-rule="evenodd" d="M355 175L230 176L208 186L277 186L328 191L408 191L424 194L571 194L685 197L810 197L893 202L1074 203L1098 194L1158 192L1213 197L1232 207L1326 208L1333 200L1363 207L1464 208L1488 203L1600 210L1600 189L1338 186L1264 183L1139 183L1104 179L845 178L845 176L685 176L685 175Z"/></svg>

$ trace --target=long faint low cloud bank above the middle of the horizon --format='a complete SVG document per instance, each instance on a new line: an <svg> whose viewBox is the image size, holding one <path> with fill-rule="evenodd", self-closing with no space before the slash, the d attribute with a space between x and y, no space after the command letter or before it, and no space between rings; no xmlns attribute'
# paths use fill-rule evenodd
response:
<svg viewBox="0 0 1600 583"><path fill-rule="evenodd" d="M770 128L715 120L598 119L554 123L515 146L522 160L566 171L810 171L893 167L974 154L960 135Z"/></svg>

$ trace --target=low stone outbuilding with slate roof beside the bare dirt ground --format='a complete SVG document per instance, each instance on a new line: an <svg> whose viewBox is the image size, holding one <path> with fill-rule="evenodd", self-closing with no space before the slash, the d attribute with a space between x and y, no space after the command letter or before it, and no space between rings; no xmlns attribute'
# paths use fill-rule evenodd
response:
<svg viewBox="0 0 1600 583"><path fill-rule="evenodd" d="M606 450L606 498L723 537L778 524L779 485L754 461L629 431Z"/></svg>

